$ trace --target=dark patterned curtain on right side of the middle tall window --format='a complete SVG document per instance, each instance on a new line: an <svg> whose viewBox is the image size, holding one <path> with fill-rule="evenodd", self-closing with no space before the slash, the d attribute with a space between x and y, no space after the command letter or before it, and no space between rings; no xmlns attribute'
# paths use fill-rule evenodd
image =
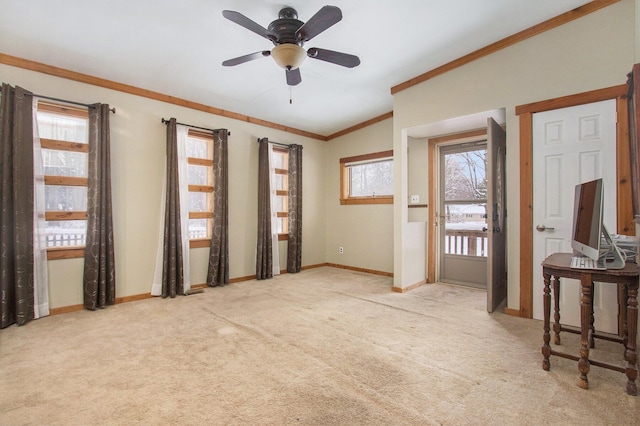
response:
<svg viewBox="0 0 640 426"><path fill-rule="evenodd" d="M227 129L213 133L213 229L209 251L207 284L229 282L229 159Z"/></svg>

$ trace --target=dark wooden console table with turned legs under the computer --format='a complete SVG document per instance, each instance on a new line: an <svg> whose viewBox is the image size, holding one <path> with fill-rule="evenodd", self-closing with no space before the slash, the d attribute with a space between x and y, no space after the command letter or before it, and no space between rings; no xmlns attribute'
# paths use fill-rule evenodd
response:
<svg viewBox="0 0 640 426"><path fill-rule="evenodd" d="M627 393L629 395L637 394L636 377L638 375L637 366L637 353L636 353L636 332L638 321L638 265L634 263L627 263L623 269L607 269L604 271L599 270L584 270L584 269L572 269L570 267L571 254L570 253L555 253L547 257L542 262L542 275L544 277L544 335L542 346L542 368L549 370L551 364L549 357L551 355L559 356L562 358L572 359L578 361L578 370L580 376L578 377L578 386L583 389L589 388L589 380L587 374L589 373L590 365L597 367L608 368L610 370L620 371L627 375ZM560 325L560 304L559 304L559 292L560 292L560 278L573 278L580 280L581 286L581 299L580 299L580 356L559 352L551 349L549 342L551 335L549 334L549 316L551 314L551 289L550 284L553 280L553 299L554 299L554 343L560 344L560 331L570 331L566 327ZM600 361L589 359L589 348L593 347L594 338L606 338L596 333L594 329L593 318L593 282L623 284L623 302L626 305L626 309L620 309L623 329L621 339L612 339L622 343L624 345L624 358L627 361L626 368L616 366L613 364L607 364Z"/></svg>

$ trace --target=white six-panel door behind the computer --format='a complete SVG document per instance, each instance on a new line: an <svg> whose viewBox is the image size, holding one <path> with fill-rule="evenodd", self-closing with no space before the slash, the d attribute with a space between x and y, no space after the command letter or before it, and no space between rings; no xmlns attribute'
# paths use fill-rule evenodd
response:
<svg viewBox="0 0 640 426"><path fill-rule="evenodd" d="M542 270L550 254L571 252L575 185L604 180L604 223L616 231L616 103L596 102L533 116L533 317L542 319ZM595 326L616 333L617 289L596 283ZM563 279L561 323L580 325L579 281Z"/></svg>

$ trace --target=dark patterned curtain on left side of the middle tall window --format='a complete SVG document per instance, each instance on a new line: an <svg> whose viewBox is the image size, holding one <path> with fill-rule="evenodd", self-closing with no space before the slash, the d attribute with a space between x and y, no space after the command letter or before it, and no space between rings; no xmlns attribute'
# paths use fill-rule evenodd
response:
<svg viewBox="0 0 640 426"><path fill-rule="evenodd" d="M162 297L184 294L180 186L178 173L178 131L175 118L167 123L167 182L164 210Z"/></svg>

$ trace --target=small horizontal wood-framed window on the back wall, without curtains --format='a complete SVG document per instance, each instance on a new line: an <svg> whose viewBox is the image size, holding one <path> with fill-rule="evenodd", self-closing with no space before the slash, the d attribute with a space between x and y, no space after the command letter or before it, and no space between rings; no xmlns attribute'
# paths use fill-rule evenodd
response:
<svg viewBox="0 0 640 426"><path fill-rule="evenodd" d="M393 151L341 158L340 204L393 204Z"/></svg>

